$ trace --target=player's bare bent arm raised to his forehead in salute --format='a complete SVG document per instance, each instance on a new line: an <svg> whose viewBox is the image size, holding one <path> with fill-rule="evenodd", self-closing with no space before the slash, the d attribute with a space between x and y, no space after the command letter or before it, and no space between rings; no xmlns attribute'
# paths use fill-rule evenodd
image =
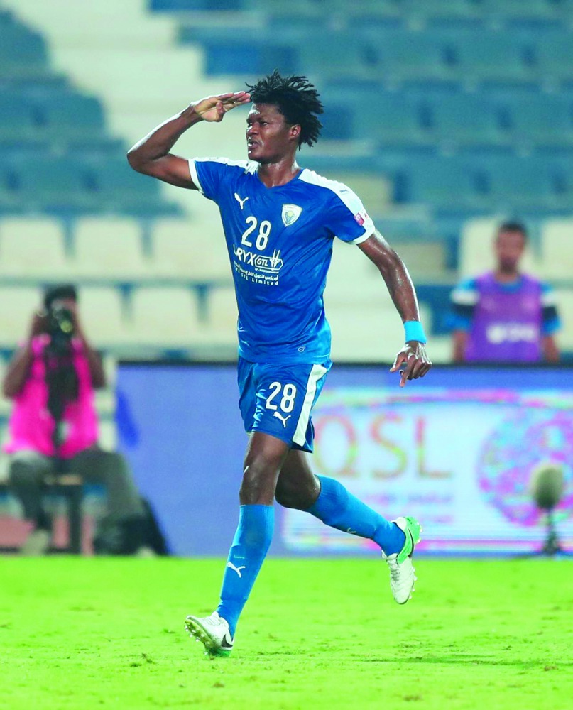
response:
<svg viewBox="0 0 573 710"><path fill-rule="evenodd" d="M180 114L164 121L130 148L127 153L129 165L138 173L151 175L153 178L169 182L170 185L197 190L197 185L191 179L189 163L185 158L170 153L171 148L182 133L199 121L219 123L227 111L250 100L249 94L239 91L209 96L193 102Z"/></svg>

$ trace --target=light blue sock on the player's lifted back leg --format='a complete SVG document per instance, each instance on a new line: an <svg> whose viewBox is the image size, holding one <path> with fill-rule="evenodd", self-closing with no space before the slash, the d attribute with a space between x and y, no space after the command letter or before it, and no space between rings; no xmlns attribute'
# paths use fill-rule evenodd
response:
<svg viewBox="0 0 573 710"><path fill-rule="evenodd" d="M372 510L366 503L346 491L338 481L327 476L318 476L320 493L307 513L322 520L331 528L342 532L353 532L360 537L368 537L379 545L386 555L400 552L404 546L405 535L398 525Z"/></svg>

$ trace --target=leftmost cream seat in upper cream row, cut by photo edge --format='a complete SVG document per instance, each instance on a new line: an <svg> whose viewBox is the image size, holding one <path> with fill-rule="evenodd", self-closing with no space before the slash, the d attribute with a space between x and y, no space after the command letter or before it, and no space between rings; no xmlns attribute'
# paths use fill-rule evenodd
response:
<svg viewBox="0 0 573 710"><path fill-rule="evenodd" d="M49 217L0 222L0 275L63 280L70 275L62 223Z"/></svg>

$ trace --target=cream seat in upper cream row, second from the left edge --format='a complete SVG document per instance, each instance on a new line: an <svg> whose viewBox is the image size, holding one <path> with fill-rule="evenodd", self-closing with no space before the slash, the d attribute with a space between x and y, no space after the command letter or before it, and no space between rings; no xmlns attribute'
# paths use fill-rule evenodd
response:
<svg viewBox="0 0 573 710"><path fill-rule="evenodd" d="M77 219L73 264L80 278L133 280L148 275L140 224L130 217Z"/></svg>

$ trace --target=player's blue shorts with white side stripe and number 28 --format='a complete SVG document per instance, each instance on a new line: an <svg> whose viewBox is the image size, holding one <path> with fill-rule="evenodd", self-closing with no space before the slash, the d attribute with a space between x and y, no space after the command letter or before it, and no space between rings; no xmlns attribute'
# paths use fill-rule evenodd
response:
<svg viewBox="0 0 573 710"><path fill-rule="evenodd" d="M263 432L292 449L312 452L310 413L332 362L320 365L268 364L239 357L239 409L245 431Z"/></svg>

